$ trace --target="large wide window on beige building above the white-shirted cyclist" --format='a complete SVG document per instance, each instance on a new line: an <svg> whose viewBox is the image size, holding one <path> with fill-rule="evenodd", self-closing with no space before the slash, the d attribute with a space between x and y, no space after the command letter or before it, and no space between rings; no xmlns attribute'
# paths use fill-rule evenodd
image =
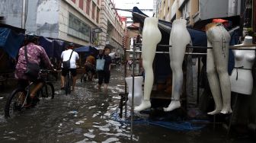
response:
<svg viewBox="0 0 256 143"><path fill-rule="evenodd" d="M90 41L91 27L81 21L74 14L69 13L68 34L82 40Z"/></svg>

